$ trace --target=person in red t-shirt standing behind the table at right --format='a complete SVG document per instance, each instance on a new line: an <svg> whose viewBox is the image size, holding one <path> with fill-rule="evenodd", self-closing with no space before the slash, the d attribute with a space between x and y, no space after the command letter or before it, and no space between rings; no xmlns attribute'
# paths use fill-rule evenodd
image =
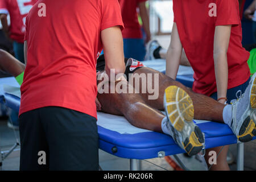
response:
<svg viewBox="0 0 256 182"><path fill-rule="evenodd" d="M240 97L249 84L250 69L247 64L249 52L241 44L238 1L174 0L173 3L174 27L167 52L167 75L176 78L184 48L195 71L193 91L210 96L222 104ZM231 116L224 114L223 117ZM226 124L232 126L232 120L229 121ZM222 147L211 148L207 152L212 150L220 155L217 165L210 169L229 170L226 162L228 146L223 150ZM207 162L209 158L205 155Z"/></svg>

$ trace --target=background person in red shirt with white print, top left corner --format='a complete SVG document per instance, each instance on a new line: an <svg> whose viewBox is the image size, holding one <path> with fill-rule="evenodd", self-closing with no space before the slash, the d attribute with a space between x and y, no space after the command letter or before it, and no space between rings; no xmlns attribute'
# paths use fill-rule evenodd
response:
<svg viewBox="0 0 256 182"><path fill-rule="evenodd" d="M0 16L3 31L13 40L16 59L24 63L24 35L26 16L38 0L1 0ZM8 26L7 15L10 14L11 25Z"/></svg>

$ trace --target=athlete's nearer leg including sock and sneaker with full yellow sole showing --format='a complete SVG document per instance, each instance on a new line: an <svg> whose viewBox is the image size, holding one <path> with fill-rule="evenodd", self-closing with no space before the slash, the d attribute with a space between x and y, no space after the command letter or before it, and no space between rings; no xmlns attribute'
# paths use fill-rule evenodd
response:
<svg viewBox="0 0 256 182"><path fill-rule="evenodd" d="M127 84L127 81L124 81L124 83ZM107 86L108 90L110 90L109 87L112 85L108 83L108 85L104 86L104 90ZM115 89L115 86L113 87ZM168 89L171 92L168 92ZM148 106L141 95L135 94L134 90L133 93L100 94L100 92L97 98L101 102L101 110L105 113L124 115L131 125L171 135L175 142L189 155L195 155L203 148L202 143L204 142L204 138L199 127L192 122L192 101L188 94L185 93L184 90L177 88L177 86L171 86L168 89L164 97L166 102L171 104L176 98L184 98L179 104L172 106L171 111L175 111L176 114L168 113L172 118L171 120L162 114L161 111ZM176 90L177 94L173 94L172 89ZM166 109L166 112L169 110L170 109ZM171 121L173 124L175 121L179 122L176 122L177 125L172 125Z"/></svg>

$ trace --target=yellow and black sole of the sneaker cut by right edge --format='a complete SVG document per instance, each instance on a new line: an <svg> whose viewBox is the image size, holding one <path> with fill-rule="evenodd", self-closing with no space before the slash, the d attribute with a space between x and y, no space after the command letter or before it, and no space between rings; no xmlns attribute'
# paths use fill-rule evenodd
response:
<svg viewBox="0 0 256 182"><path fill-rule="evenodd" d="M251 84L251 97L250 97L250 110L251 114L248 116L241 126L237 138L241 142L249 142L256 136L256 75L252 77L253 83Z"/></svg>

